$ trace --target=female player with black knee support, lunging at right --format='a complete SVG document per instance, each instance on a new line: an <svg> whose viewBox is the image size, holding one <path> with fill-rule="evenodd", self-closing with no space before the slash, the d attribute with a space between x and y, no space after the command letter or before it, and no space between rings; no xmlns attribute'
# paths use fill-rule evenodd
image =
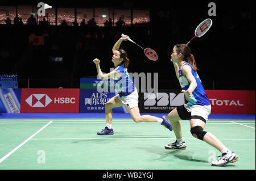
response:
<svg viewBox="0 0 256 181"><path fill-rule="evenodd" d="M166 149L186 149L183 140L180 120L190 120L193 137L207 142L221 151L222 158L213 161L213 166L224 166L238 160L237 155L230 151L212 133L204 131L205 123L211 111L211 106L204 87L197 74L196 61L190 48L185 44L177 44L172 49L171 61L174 64L177 79L188 103L179 106L168 114L176 136L174 143L165 146ZM221 157L221 156L220 156Z"/></svg>

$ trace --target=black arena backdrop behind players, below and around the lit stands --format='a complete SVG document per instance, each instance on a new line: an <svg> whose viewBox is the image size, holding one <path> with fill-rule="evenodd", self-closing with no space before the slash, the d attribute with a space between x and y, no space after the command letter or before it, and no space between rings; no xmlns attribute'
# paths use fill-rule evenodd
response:
<svg viewBox="0 0 256 181"><path fill-rule="evenodd" d="M39 2L39 1L38 1ZM0 1L0 5L30 5L37 1ZM79 88L80 78L96 77L94 58L105 73L113 66L112 47L122 33L142 47L154 49L158 61L148 60L143 50L123 41L130 58L129 72L159 73L159 89L180 89L168 49L187 44L204 19L213 25L190 44L205 89L255 90L255 1L44 1L57 7L114 7L149 9L150 24L140 27L7 27L0 25L1 74L18 74L19 88ZM208 16L215 2L216 16ZM28 36L47 30L45 45L32 46ZM98 33L86 39L86 32ZM101 38L104 32L105 38ZM115 37L118 33L118 37ZM7 53L6 53L7 52ZM63 57L62 63L49 60Z"/></svg>

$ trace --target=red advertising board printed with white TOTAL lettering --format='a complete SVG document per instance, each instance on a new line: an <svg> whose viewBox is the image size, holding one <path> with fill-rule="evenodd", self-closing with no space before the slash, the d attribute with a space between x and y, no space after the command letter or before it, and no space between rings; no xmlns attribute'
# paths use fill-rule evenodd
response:
<svg viewBox="0 0 256 181"><path fill-rule="evenodd" d="M255 114L255 91L205 90L212 113Z"/></svg>

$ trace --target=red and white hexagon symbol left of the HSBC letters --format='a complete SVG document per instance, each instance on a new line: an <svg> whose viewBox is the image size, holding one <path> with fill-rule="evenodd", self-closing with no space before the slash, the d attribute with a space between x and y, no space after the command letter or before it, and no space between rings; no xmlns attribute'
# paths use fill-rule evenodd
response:
<svg viewBox="0 0 256 181"><path fill-rule="evenodd" d="M27 99L26 102L31 107L46 107L52 102L47 94L32 94Z"/></svg>

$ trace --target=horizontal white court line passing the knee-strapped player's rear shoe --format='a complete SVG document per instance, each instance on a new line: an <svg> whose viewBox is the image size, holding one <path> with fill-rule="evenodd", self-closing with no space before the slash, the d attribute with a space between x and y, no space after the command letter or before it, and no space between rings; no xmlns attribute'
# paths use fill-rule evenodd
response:
<svg viewBox="0 0 256 181"><path fill-rule="evenodd" d="M176 138L33 138L31 140L172 140ZM196 138L184 138L184 140L197 140ZM218 140L255 140L243 138L219 138Z"/></svg>

